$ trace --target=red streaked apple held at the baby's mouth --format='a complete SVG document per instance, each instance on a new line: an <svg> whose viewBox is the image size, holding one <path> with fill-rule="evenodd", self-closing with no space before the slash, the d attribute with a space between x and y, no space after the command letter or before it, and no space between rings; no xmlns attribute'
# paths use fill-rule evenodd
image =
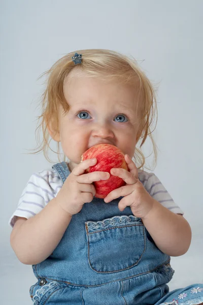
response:
<svg viewBox="0 0 203 305"><path fill-rule="evenodd" d="M104 171L110 173L112 168L124 168L128 171L124 154L114 145L97 144L90 147L82 155L82 161L92 158L96 158L97 163L94 166L90 166L86 172ZM93 185L96 190L95 197L104 199L111 191L124 186L125 181L110 173L108 180L94 181Z"/></svg>

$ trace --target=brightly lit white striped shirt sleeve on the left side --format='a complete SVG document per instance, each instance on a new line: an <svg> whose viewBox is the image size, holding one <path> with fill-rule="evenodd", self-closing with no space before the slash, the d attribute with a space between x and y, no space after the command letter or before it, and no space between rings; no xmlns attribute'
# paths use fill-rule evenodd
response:
<svg viewBox="0 0 203 305"><path fill-rule="evenodd" d="M35 216L56 196L57 192L53 185L56 185L57 176L55 175L55 182L53 178L53 172L50 171L31 175L19 199L17 208L9 220L11 227L14 226L17 217L28 219Z"/></svg>

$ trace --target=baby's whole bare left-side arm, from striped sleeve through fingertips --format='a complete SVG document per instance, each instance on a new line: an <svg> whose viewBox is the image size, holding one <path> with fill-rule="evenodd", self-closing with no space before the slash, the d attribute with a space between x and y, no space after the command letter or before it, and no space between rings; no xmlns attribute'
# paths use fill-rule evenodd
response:
<svg viewBox="0 0 203 305"><path fill-rule="evenodd" d="M11 232L11 246L18 259L28 265L45 260L61 240L72 216L85 202L91 202L96 191L93 181L109 179L108 172L85 170L96 164L87 159L78 164L65 180L56 198L52 199L37 215L16 221ZM73 232L74 234L74 232Z"/></svg>

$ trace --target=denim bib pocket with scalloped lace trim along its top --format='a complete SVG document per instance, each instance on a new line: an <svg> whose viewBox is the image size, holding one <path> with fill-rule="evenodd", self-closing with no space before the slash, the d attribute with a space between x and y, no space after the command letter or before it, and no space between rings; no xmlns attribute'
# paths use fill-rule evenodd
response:
<svg viewBox="0 0 203 305"><path fill-rule="evenodd" d="M85 223L88 262L101 273L119 272L136 266L146 249L145 227L133 215L115 216Z"/></svg>

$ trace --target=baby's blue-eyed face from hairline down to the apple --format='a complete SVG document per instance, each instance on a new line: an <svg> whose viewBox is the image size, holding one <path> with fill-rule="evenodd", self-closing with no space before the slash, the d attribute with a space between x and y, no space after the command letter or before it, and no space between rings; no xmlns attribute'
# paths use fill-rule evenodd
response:
<svg viewBox="0 0 203 305"><path fill-rule="evenodd" d="M132 158L139 127L135 88L81 74L66 79L63 92L70 110L64 114L61 109L55 140L61 142L71 170L85 150L100 143L113 144Z"/></svg>

